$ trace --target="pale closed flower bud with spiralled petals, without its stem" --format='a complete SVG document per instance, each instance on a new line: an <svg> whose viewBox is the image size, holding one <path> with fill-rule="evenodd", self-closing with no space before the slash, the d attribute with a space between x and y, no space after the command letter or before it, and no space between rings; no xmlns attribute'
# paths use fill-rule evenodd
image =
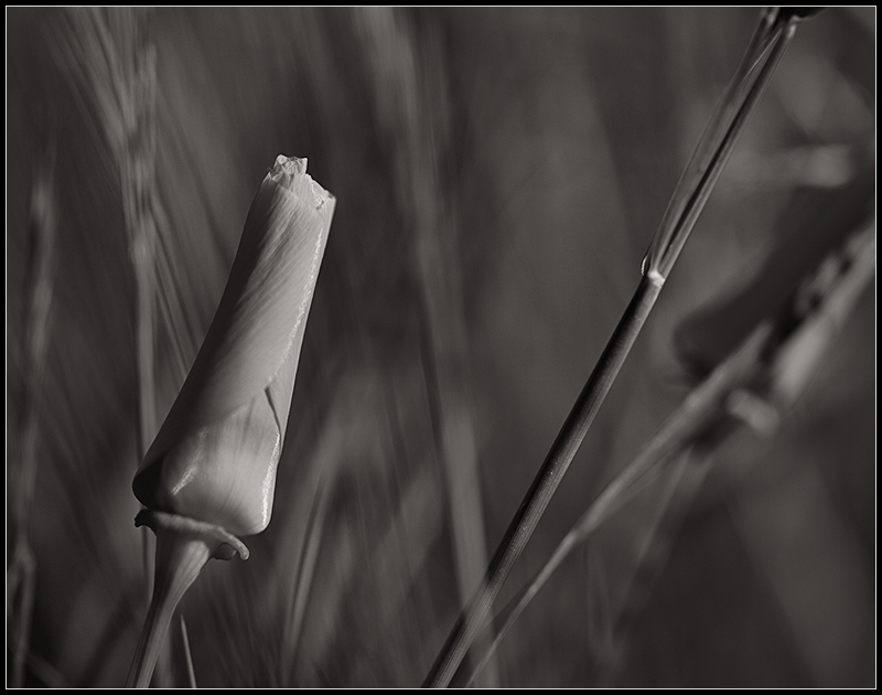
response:
<svg viewBox="0 0 882 695"><path fill-rule="evenodd" d="M136 474L150 510L263 531L336 200L279 156L251 203L196 361Z"/></svg>

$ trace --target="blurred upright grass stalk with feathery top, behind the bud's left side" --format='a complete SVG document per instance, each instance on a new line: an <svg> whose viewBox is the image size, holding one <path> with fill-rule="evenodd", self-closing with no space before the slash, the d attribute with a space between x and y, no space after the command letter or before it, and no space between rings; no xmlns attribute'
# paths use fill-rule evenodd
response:
<svg viewBox="0 0 882 695"><path fill-rule="evenodd" d="M84 111L90 119L93 111L97 115L122 199L135 278L136 464L157 434L157 53L151 17L152 10L138 8L71 9L61 24L57 55ZM151 550L143 530L144 601L151 594Z"/></svg>

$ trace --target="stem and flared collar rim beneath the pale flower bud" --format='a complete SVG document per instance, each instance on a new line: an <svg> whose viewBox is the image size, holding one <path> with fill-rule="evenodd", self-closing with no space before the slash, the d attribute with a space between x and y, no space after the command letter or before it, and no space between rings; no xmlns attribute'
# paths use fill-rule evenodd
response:
<svg viewBox="0 0 882 695"><path fill-rule="evenodd" d="M126 687L149 687L174 609L205 563L212 557L229 559L236 553L245 559L248 549L220 526L176 514L148 510L138 514L136 524L150 526L157 533L157 569L153 598Z"/></svg>

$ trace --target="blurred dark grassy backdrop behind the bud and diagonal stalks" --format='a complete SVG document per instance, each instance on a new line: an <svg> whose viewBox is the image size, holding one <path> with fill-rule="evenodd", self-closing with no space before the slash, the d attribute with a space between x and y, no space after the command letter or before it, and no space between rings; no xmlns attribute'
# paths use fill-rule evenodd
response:
<svg viewBox="0 0 882 695"><path fill-rule="evenodd" d="M138 451L279 153L337 207L272 522L181 603L196 681L418 685L756 21L8 8L8 685L125 682ZM724 354L716 308L759 319L803 250L864 222L874 105L875 9L803 23L497 610ZM777 430L711 463L665 524L649 489L580 547L477 684L873 686L873 287ZM160 684L180 683L172 638Z"/></svg>

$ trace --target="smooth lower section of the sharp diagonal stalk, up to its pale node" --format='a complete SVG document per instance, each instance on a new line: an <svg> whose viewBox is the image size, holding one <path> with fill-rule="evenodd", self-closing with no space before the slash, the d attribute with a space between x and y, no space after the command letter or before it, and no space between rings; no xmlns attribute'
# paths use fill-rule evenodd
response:
<svg viewBox="0 0 882 695"><path fill-rule="evenodd" d="M615 328L527 495L508 525L487 568L484 585L456 620L456 624L426 677L423 686L447 687L456 673L469 645L481 629L496 596L505 584L512 566L526 547L539 518L585 438L591 423L646 322L663 285L664 279L658 274L649 274L642 278L622 320Z"/></svg>

